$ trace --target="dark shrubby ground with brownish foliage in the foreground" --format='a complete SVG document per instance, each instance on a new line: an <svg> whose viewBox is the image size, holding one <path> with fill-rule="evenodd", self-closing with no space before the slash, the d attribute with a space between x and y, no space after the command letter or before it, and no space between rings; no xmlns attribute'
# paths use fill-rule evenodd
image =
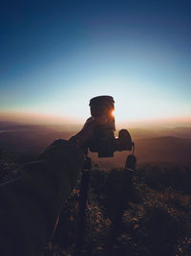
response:
<svg viewBox="0 0 191 256"><path fill-rule="evenodd" d="M19 166L0 151L0 182L17 176ZM131 176L94 165L82 255L191 255L190 184L189 165L144 164ZM74 255L78 195L76 184L43 256Z"/></svg>

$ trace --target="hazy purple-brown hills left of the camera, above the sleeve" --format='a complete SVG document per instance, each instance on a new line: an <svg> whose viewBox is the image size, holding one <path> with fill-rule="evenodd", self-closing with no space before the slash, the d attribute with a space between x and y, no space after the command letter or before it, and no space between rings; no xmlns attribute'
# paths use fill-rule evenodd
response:
<svg viewBox="0 0 191 256"><path fill-rule="evenodd" d="M38 154L54 140L69 138L71 135L69 131L50 126L0 122L0 148L11 152L14 157L20 157L23 153Z"/></svg>

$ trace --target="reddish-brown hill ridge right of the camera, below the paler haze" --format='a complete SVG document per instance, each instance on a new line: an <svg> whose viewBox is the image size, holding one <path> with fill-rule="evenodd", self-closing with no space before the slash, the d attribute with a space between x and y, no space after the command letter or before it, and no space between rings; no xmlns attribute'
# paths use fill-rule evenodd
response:
<svg viewBox="0 0 191 256"><path fill-rule="evenodd" d="M138 163L143 162L191 162L191 139L173 136L136 140ZM115 163L125 161L127 152L116 152Z"/></svg>

